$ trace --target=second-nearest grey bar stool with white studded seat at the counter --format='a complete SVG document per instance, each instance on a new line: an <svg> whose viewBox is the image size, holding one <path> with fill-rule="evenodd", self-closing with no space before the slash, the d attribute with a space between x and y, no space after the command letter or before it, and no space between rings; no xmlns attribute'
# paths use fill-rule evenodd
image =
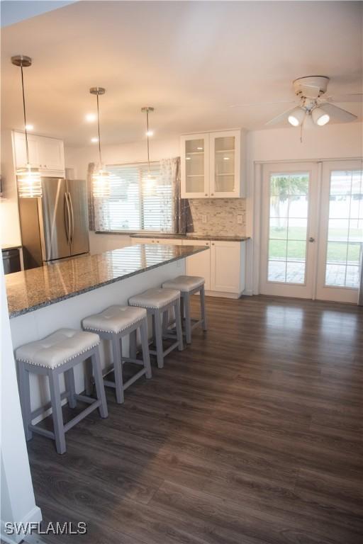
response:
<svg viewBox="0 0 363 544"><path fill-rule="evenodd" d="M87 331L95 331L101 339L111 340L112 346L112 365L104 371L104 378L113 371L115 381L104 379L104 385L114 387L116 390L116 402L122 404L124 401L123 392L130 385L145 374L146 378L151 378L151 366L149 355L149 344L147 339L147 313L143 308L131 308L130 306L110 306L99 314L85 317L82 321L82 327ZM135 357L125 358L122 355L122 339L140 329L141 345L143 347L143 359ZM130 342L131 344L131 342ZM143 365L143 368L133 375L130 380L123 383L123 363L135 363Z"/></svg>

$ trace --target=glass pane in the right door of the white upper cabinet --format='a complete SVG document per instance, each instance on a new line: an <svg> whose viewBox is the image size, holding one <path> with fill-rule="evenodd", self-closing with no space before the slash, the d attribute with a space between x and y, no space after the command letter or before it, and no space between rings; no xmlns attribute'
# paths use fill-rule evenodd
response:
<svg viewBox="0 0 363 544"><path fill-rule="evenodd" d="M235 188L235 137L222 136L214 140L214 186L216 193L228 193Z"/></svg>

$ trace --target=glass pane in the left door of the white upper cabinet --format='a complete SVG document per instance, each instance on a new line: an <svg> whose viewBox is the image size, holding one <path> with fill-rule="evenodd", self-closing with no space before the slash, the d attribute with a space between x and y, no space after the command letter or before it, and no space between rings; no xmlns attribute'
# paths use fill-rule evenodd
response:
<svg viewBox="0 0 363 544"><path fill-rule="evenodd" d="M204 191L204 140L186 140L185 142L186 192L203 193Z"/></svg>

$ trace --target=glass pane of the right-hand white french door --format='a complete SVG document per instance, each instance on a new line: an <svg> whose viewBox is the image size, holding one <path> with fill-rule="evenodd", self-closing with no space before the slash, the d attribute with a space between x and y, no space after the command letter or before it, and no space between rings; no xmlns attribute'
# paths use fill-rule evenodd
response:
<svg viewBox="0 0 363 544"><path fill-rule="evenodd" d="M362 208L362 171L333 171L330 174L325 285L358 288L363 246Z"/></svg>

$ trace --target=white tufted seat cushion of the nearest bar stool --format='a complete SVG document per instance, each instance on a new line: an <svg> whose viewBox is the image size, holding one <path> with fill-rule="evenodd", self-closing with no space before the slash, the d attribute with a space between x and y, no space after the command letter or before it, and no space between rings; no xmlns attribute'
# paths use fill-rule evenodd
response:
<svg viewBox="0 0 363 544"><path fill-rule="evenodd" d="M15 356L17 361L57 368L99 343L99 335L93 332L59 329L42 340L19 347Z"/></svg>

